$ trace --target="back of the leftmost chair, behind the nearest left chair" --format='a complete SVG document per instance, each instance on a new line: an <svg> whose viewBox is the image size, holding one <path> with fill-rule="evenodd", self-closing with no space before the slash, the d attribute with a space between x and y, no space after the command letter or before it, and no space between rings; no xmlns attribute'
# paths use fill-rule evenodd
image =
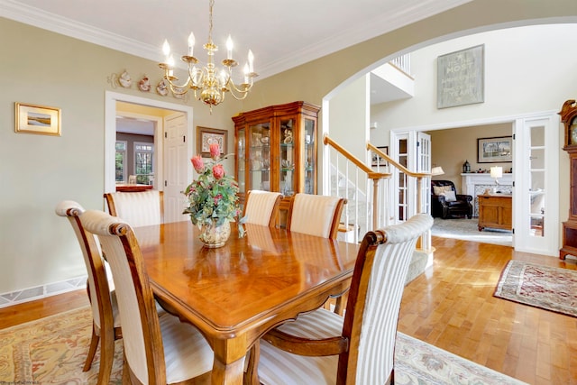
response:
<svg viewBox="0 0 577 385"><path fill-rule="evenodd" d="M80 250L88 273L88 294L94 323L102 334L112 333L114 341L114 316L110 298L110 286L102 258L100 244L93 234L87 234L80 225L80 215L84 208L71 200L62 201L56 206L56 214L68 217L74 234L78 239Z"/></svg>

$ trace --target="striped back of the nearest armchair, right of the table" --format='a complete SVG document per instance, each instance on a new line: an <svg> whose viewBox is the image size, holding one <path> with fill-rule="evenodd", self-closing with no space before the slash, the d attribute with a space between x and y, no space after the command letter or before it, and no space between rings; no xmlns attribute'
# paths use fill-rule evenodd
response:
<svg viewBox="0 0 577 385"><path fill-rule="evenodd" d="M344 316L343 336L350 343L339 355L339 379L359 384L389 380L408 265L418 237L432 225L430 215L417 214L400 225L365 234Z"/></svg>

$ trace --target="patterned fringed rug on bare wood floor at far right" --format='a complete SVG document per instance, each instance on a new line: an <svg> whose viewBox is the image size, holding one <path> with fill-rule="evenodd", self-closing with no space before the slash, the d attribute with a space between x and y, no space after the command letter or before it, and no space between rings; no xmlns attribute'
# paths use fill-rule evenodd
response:
<svg viewBox="0 0 577 385"><path fill-rule="evenodd" d="M577 316L577 271L509 261L494 296Z"/></svg>

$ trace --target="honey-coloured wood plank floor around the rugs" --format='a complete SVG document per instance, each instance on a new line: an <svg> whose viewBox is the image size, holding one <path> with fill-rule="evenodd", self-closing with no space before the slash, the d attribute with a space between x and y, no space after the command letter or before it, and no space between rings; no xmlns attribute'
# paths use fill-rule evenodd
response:
<svg viewBox="0 0 577 385"><path fill-rule="evenodd" d="M405 289L398 330L530 384L577 384L577 318L494 298L511 259L575 260L433 238L434 266ZM0 328L87 306L85 290L0 309Z"/></svg>

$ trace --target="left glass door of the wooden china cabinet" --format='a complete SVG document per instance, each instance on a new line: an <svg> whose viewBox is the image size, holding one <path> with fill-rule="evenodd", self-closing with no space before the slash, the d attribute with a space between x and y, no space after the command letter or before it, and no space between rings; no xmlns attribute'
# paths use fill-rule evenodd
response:
<svg viewBox="0 0 577 385"><path fill-rule="evenodd" d="M249 189L270 189L270 123L249 126Z"/></svg>

